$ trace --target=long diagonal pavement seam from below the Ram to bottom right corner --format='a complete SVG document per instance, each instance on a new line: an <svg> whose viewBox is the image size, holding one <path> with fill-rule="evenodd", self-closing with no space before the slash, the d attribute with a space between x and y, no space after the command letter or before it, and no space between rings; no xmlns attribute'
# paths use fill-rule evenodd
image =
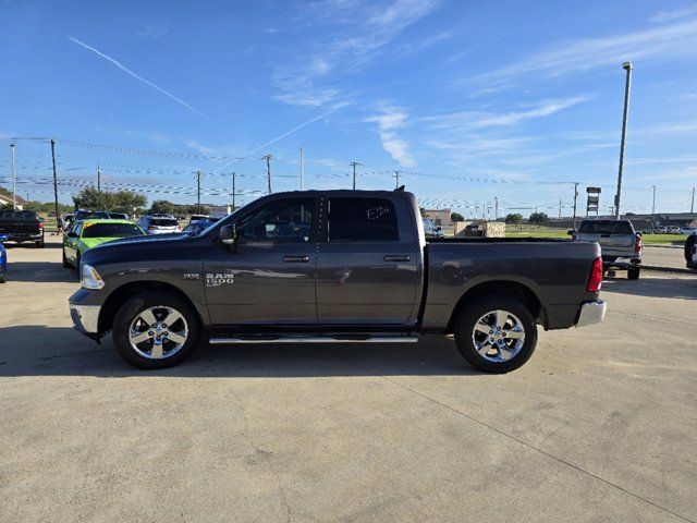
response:
<svg viewBox="0 0 697 523"><path fill-rule="evenodd" d="M399 381L395 381L394 379L391 379L391 378L389 378L387 376L383 376L383 375L381 375L379 373L376 373L371 368L366 367L364 365L360 365L359 363L353 362L353 361L347 360L347 358L342 357L342 356L337 356L337 357L350 363L351 365L354 365L355 367L358 367L358 368L371 374L372 376L375 376L377 378L383 379L384 381L388 381L389 384L392 384L392 385L394 385L396 387L400 387L401 389L406 390L407 392L411 392L411 393L416 394L416 396L418 396L418 397L420 397L420 398L423 398L423 399L425 399L427 401L436 403L437 405L439 405L439 406L441 406L443 409L447 409L447 410L457 414L458 416L465 417L466 419L469 419L470 422L476 423L477 425L480 425L480 426L482 426L482 427L485 427L485 428L487 428L489 430L492 430L492 431L499 434L500 436L503 436L504 438L508 438L508 439L510 439L512 441L515 441L515 442L522 445L523 447L526 447L529 450L533 450L533 451L538 452L538 453L540 453L542 455L546 455L547 458L550 458L550 459L563 464L563 465L566 465L566 466L568 466L571 469L574 469L575 471L580 472L582 474L585 474L585 475L587 475L589 477L592 477L592 478L595 478L595 479L608 485L609 487L612 487L612 488L614 488L616 490L620 490L621 492L626 494L627 496L631 496L632 498L635 498L635 499L637 499L639 501L643 501L643 502L645 502L647 504L650 504L651 507L655 507L655 508L657 508L657 509L659 509L659 510L661 510L661 511L663 511L663 512L665 512L665 513L668 513L670 515L678 518L680 520L687 521L688 523L697 523L694 520L690 520L689 518L686 518L686 516L684 516L682 514L678 514L677 512L673 512L672 510L667 509L665 507L662 507L662 506L660 506L658 503L655 503L653 501L651 501L651 500L649 500L647 498L644 498L640 495L633 492L632 490L627 490L626 488L617 485L616 483L612 483L611 481L606 479L604 477L599 476L598 474L594 474L592 472L587 471L586 469L582 467L580 465L576 465L574 463L571 463L571 462L568 462L568 461L566 461L566 460L564 460L562 458L559 458L558 455L554 455L554 454L552 454L552 453L550 453L550 452L548 452L548 451L546 451L543 449L540 449L539 447L534 446L533 443L529 443L529 442L527 442L527 441L525 441L523 439L519 439L519 438L517 438L517 437L515 437L515 436L513 436L513 435L511 435L511 434L509 434L509 433L506 433L504 430L501 430L500 428L497 428L493 425L489 425L488 423L482 422L481 419L477 419L476 417L472 416L470 414L467 414L466 412L463 412L463 411L461 411L458 409L455 409L454 406L451 406L451 405L449 405L447 403L443 403L443 402L437 400L436 398L432 398L432 397L430 397L428 394L419 392L418 390L412 389L411 387L407 387L406 385L400 384Z"/></svg>

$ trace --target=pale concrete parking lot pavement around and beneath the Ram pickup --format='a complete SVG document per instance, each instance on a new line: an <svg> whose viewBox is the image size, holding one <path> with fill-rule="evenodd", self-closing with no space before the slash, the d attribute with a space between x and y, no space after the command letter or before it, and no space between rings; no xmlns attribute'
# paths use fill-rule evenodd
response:
<svg viewBox="0 0 697 523"><path fill-rule="evenodd" d="M72 330L59 247L0 285L2 521L697 520L697 275L620 272L503 376L439 337L144 373Z"/></svg>

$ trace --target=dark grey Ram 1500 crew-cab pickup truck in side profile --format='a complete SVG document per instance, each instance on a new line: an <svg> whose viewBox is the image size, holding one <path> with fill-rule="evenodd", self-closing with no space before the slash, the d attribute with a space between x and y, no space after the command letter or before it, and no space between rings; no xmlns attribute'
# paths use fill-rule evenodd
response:
<svg viewBox="0 0 697 523"><path fill-rule="evenodd" d="M426 242L413 194L305 191L257 199L198 233L85 253L75 328L143 368L211 344L408 343L453 333L475 367L523 365L537 325L601 321L590 242Z"/></svg>

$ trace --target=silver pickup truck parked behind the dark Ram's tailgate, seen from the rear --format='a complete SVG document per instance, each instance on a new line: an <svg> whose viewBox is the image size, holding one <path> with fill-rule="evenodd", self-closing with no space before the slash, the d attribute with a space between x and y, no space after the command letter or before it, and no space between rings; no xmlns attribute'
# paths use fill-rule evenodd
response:
<svg viewBox="0 0 697 523"><path fill-rule="evenodd" d="M641 234L629 220L584 220L577 230L568 233L573 240L598 242L604 270L626 270L629 280L639 279Z"/></svg>

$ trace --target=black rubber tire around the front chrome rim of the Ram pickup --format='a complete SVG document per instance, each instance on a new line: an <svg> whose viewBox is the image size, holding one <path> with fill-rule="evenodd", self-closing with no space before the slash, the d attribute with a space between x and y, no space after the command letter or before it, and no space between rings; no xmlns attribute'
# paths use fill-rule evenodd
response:
<svg viewBox="0 0 697 523"><path fill-rule="evenodd" d="M147 357L147 355L139 354L131 346L131 324L149 307L172 308L179 312L185 320L186 341L179 350L169 356L164 354L163 351L162 357L154 360ZM163 317L162 319L166 318L167 317ZM111 330L113 344L117 348L119 355L131 365L144 369L166 368L176 365L194 352L200 337L200 326L195 311L193 311L191 305L182 299L167 291L143 292L130 297L121 308L119 308ZM147 328L145 330L147 330ZM145 332L145 330L140 332ZM142 348L142 352L147 352L149 340L146 340L143 343L145 346L143 344L136 344L136 348ZM174 342L167 341L167 343L169 344ZM151 350L155 348L154 344L150 344L149 346ZM170 344L169 346L172 345Z"/></svg>

